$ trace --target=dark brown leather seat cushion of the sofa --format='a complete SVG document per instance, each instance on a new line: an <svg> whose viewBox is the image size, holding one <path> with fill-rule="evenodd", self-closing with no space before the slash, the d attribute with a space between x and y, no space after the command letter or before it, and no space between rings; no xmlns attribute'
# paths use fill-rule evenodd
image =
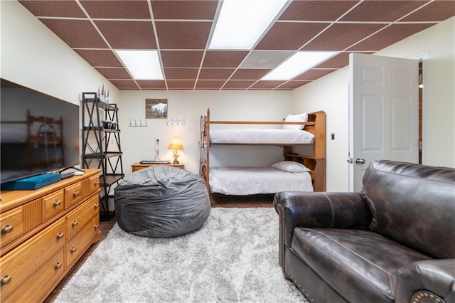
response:
<svg viewBox="0 0 455 303"><path fill-rule="evenodd" d="M392 302L400 267L430 259L370 230L296 228L291 249L350 302Z"/></svg>

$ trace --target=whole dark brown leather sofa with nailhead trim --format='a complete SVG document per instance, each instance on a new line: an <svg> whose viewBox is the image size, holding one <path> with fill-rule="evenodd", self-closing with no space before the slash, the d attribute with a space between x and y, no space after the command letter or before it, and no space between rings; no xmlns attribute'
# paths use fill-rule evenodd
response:
<svg viewBox="0 0 455 303"><path fill-rule="evenodd" d="M455 302L455 169L373 161L360 193L277 193L279 265L310 302Z"/></svg>

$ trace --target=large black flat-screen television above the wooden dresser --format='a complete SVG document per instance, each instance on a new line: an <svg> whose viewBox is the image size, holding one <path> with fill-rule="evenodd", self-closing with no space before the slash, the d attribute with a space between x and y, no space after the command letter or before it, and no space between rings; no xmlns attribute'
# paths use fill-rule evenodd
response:
<svg viewBox="0 0 455 303"><path fill-rule="evenodd" d="M0 184L79 165L79 105L0 80Z"/></svg>

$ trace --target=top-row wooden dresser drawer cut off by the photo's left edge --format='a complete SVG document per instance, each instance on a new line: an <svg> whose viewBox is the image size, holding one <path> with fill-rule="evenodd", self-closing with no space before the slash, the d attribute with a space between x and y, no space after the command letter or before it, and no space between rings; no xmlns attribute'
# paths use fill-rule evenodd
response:
<svg viewBox="0 0 455 303"><path fill-rule="evenodd" d="M23 206L0 213L0 243L4 246L23 234Z"/></svg>

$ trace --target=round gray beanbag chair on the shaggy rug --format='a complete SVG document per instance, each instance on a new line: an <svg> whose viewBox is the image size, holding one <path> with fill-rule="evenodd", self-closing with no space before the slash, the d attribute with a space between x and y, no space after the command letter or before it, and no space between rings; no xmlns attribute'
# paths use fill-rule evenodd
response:
<svg viewBox="0 0 455 303"><path fill-rule="evenodd" d="M125 177L115 188L114 203L119 226L144 237L183 235L210 215L204 181L172 166L151 166Z"/></svg>

